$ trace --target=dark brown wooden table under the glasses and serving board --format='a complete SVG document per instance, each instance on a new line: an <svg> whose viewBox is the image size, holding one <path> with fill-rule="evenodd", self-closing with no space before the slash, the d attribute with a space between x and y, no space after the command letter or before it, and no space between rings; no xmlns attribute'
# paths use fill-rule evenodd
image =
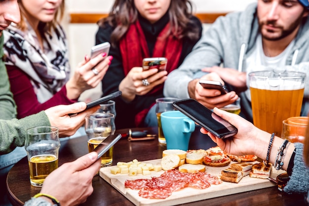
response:
<svg viewBox="0 0 309 206"><path fill-rule="evenodd" d="M156 128L140 128L136 130L148 130L152 134L157 133ZM127 133L128 129L117 130L116 133ZM199 132L196 128L190 139L189 149L208 149L216 144L211 141L207 135ZM166 145L158 143L157 138L150 141L128 141L126 138L120 139L114 147L113 165L117 162L128 162L133 159L146 161L162 158L162 151ZM76 160L78 157L88 153L87 137L76 137L62 141L59 153L59 166L65 162ZM92 181L94 191L88 197L83 206L132 206L133 204L122 196L114 187L102 179L99 175L95 176ZM6 187L9 200L13 206L22 206L25 201L39 193L40 188L33 187L29 180L29 168L27 157L23 158L10 170L7 176ZM308 205L304 195L287 195L277 190L276 187L259 189L238 193L234 195L198 201L184 204L196 206L286 206L286 205Z"/></svg>

